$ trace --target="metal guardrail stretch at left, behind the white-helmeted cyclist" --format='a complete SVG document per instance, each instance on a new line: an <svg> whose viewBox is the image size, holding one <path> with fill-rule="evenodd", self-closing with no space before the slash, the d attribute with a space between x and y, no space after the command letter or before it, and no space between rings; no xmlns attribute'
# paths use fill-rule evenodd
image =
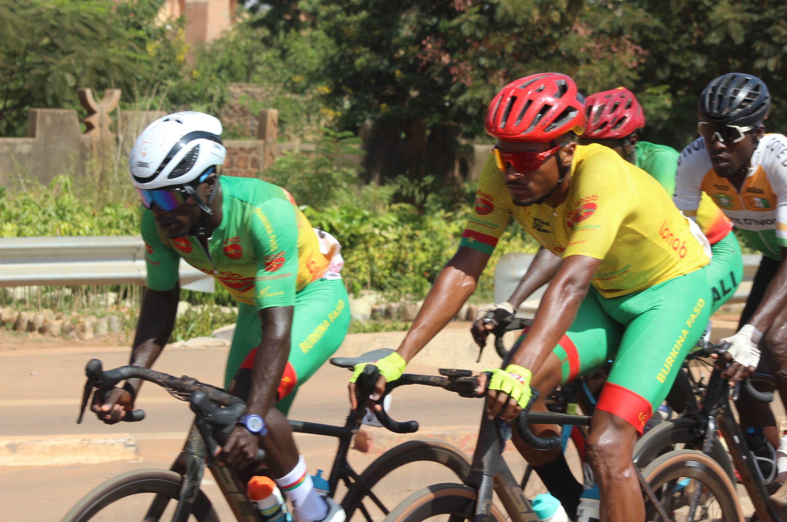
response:
<svg viewBox="0 0 787 522"><path fill-rule="evenodd" d="M212 292L213 278L180 260L180 287ZM0 287L144 284L138 235L0 238Z"/></svg>

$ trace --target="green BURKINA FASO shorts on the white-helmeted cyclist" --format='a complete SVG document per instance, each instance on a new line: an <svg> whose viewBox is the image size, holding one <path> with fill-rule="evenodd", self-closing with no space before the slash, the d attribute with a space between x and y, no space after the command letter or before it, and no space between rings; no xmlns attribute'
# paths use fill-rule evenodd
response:
<svg viewBox="0 0 787 522"><path fill-rule="evenodd" d="M290 357L279 382L279 402L276 404L282 413L286 415L290 410L297 388L342 344L349 319L349 301L342 280L316 280L295 294ZM250 379L261 339L257 311L252 305L239 303L238 323L224 372L225 389L229 388L232 379L238 382ZM242 376L243 372L249 375Z"/></svg>

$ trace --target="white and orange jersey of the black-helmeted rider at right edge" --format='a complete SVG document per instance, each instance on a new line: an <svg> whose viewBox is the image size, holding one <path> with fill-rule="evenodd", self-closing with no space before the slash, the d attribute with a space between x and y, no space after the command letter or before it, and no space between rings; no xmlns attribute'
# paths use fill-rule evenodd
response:
<svg viewBox="0 0 787 522"><path fill-rule="evenodd" d="M759 140L740 192L716 174L705 140L695 139L678 159L675 205L695 217L703 191L752 246L781 259L779 247L787 247L787 137L767 134Z"/></svg>

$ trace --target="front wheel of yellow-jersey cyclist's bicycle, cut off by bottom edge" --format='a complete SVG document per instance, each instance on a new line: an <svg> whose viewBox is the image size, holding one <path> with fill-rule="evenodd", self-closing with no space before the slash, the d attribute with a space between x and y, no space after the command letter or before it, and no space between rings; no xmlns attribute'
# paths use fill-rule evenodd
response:
<svg viewBox="0 0 787 522"><path fill-rule="evenodd" d="M386 522L434 522L449 520L450 516L461 516L473 520L476 491L462 484L434 484L424 487L405 498L386 516ZM490 520L505 522L505 516L492 505Z"/></svg>

